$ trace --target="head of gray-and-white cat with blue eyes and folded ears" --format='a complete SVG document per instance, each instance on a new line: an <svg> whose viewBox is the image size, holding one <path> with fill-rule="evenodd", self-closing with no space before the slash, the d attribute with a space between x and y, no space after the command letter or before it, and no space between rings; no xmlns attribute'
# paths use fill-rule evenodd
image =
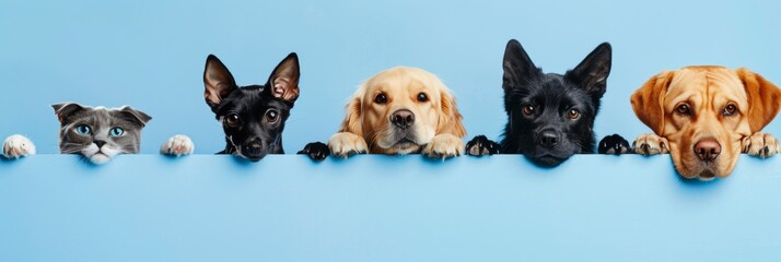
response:
<svg viewBox="0 0 781 262"><path fill-rule="evenodd" d="M60 120L60 153L104 164L117 154L138 154L141 129L152 119L129 106L118 109L75 103L51 105Z"/></svg>

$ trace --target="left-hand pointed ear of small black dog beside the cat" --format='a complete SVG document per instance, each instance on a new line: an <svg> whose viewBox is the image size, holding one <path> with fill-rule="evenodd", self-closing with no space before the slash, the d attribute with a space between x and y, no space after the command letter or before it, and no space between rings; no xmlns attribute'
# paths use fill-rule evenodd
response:
<svg viewBox="0 0 781 262"><path fill-rule="evenodd" d="M206 59L203 85L206 86L203 92L206 104L211 107L212 111L217 109L217 106L228 94L237 88L231 72L214 55L209 55Z"/></svg>

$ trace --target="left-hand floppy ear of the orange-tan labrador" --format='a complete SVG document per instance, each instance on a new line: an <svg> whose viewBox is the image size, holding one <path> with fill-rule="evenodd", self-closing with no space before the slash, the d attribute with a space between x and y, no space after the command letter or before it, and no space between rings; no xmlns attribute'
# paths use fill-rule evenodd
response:
<svg viewBox="0 0 781 262"><path fill-rule="evenodd" d="M662 71L634 91L631 103L634 115L656 134L664 130L664 94L667 93L673 71Z"/></svg>

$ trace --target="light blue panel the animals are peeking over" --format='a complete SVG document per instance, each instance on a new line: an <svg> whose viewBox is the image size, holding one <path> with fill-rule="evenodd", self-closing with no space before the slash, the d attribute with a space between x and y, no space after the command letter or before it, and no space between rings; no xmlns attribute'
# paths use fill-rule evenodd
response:
<svg viewBox="0 0 781 262"><path fill-rule="evenodd" d="M0 261L779 261L779 165L38 155L0 162Z"/></svg>

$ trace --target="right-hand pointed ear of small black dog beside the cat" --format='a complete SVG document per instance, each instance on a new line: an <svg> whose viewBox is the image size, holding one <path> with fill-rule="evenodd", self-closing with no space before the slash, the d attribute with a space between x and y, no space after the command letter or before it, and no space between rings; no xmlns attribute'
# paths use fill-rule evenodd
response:
<svg viewBox="0 0 781 262"><path fill-rule="evenodd" d="M299 56L291 52L273 69L264 92L292 105L299 98L300 76Z"/></svg>

